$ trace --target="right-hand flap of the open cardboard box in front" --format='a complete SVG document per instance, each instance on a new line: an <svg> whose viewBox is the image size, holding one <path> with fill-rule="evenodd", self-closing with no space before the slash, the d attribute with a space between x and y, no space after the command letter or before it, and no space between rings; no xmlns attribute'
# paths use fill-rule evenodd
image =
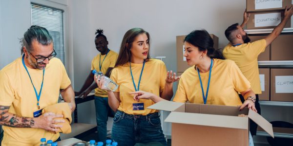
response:
<svg viewBox="0 0 293 146"><path fill-rule="evenodd" d="M268 122L265 118L263 118L261 115L259 115L257 112L253 110L249 110L248 112L248 117L255 122L259 127L263 128L266 132L268 132L269 135L273 136L273 131L272 131L272 124Z"/></svg>

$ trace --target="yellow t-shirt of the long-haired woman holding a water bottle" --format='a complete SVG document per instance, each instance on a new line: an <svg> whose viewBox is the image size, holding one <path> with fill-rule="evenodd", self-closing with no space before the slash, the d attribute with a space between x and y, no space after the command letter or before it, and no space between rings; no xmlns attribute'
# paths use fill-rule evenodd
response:
<svg viewBox="0 0 293 146"><path fill-rule="evenodd" d="M131 70L136 88L138 86L139 77L142 71L143 64L131 63ZM144 71L140 82L140 91L147 91L160 96L165 87L165 79L167 77L167 69L165 63L158 59L149 59L145 63ZM129 92L135 91L129 63L123 66L118 66L112 70L111 77L118 84L116 92L120 94L120 106L118 110L124 111L127 114L147 115L156 112L157 110L146 109L154 104L150 99L140 99L139 102L133 100L133 95ZM133 103L144 103L144 110L133 110Z"/></svg>

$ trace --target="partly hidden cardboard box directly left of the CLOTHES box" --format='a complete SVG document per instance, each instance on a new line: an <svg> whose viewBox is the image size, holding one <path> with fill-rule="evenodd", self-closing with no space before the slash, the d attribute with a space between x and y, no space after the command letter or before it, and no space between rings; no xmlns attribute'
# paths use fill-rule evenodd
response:
<svg viewBox="0 0 293 146"><path fill-rule="evenodd" d="M261 94L259 100L270 100L270 69L259 69Z"/></svg>

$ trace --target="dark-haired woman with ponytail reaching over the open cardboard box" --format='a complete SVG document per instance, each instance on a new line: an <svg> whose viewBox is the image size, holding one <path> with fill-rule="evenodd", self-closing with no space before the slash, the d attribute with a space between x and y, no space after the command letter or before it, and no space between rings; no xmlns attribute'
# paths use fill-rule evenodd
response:
<svg viewBox="0 0 293 146"><path fill-rule="evenodd" d="M256 111L255 94L250 82L241 73L234 61L224 60L220 50L213 48L213 40L206 30L196 30L184 39L188 68L179 81L173 101L197 104L248 106ZM245 102L242 104L238 92ZM145 91L132 92L135 100L151 99L154 102L164 100ZM250 146L253 145L250 136Z"/></svg>

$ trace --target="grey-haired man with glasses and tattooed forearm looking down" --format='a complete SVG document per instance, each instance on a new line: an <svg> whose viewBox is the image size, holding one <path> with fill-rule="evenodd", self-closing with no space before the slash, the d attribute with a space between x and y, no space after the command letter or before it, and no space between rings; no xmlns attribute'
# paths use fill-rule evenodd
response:
<svg viewBox="0 0 293 146"><path fill-rule="evenodd" d="M53 40L40 26L31 26L21 39L21 57L0 71L0 125L2 146L39 146L40 139L58 141L62 114L42 113L58 103L61 93L71 112L74 91L60 59L55 58ZM50 64L49 64L50 62Z"/></svg>

